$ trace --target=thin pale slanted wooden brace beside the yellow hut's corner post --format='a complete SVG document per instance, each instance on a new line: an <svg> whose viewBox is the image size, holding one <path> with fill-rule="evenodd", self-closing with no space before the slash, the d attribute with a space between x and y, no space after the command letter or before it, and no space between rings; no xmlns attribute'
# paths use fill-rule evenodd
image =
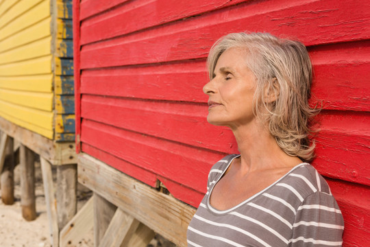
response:
<svg viewBox="0 0 370 247"><path fill-rule="evenodd" d="M51 175L51 164L40 156L42 183L44 183L45 201L47 204L47 217L49 219L50 242L52 246L58 246L59 228L58 215L56 212L56 198L54 196L53 176Z"/></svg>

